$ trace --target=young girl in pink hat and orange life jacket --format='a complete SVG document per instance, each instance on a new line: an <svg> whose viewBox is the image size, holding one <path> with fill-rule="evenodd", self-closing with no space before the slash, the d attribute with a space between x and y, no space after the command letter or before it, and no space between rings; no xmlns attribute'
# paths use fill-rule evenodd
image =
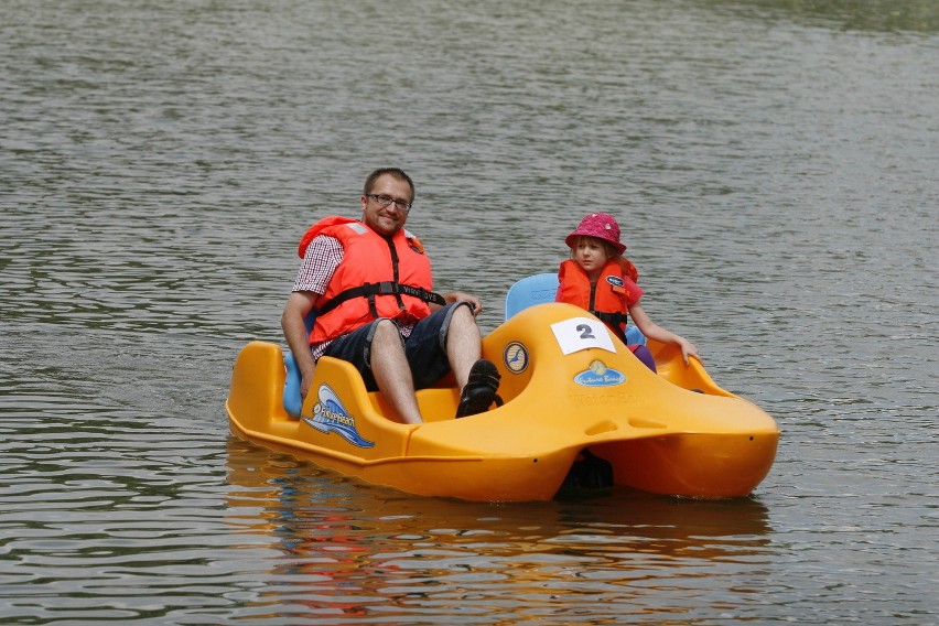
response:
<svg viewBox="0 0 939 626"><path fill-rule="evenodd" d="M623 343L626 343L626 316L629 314L646 337L680 347L686 364L689 356L701 358L691 342L655 324L639 305L643 296L643 290L636 284L639 273L623 256L626 246L619 242L619 225L612 215L591 213L564 241L571 248L571 260L563 261L558 270L557 302L576 304L590 311ZM627 347L656 370L646 346Z"/></svg>

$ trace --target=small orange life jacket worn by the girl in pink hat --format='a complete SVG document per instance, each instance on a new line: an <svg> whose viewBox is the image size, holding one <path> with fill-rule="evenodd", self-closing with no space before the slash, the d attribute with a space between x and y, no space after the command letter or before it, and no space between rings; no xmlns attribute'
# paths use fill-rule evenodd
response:
<svg viewBox="0 0 939 626"><path fill-rule="evenodd" d="M603 267L596 281L591 284L587 273L576 261L569 259L558 270L557 302L576 304L602 320L625 341L626 320L629 306L639 302L643 290L636 284L639 272L624 257L611 259Z"/></svg>

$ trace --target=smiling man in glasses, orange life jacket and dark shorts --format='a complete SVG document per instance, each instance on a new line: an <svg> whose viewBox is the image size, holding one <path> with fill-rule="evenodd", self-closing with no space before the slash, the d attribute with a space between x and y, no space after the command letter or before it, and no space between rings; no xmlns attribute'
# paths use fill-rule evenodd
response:
<svg viewBox="0 0 939 626"><path fill-rule="evenodd" d="M300 367L303 398L316 360L326 355L355 365L366 388L380 390L406 423L423 421L414 390L451 370L463 389L457 418L498 400L498 370L479 358L479 301L431 291L430 260L403 228L413 199L408 174L376 170L359 198L360 220L327 217L301 239L303 262L281 326ZM304 320L314 309L307 331Z"/></svg>

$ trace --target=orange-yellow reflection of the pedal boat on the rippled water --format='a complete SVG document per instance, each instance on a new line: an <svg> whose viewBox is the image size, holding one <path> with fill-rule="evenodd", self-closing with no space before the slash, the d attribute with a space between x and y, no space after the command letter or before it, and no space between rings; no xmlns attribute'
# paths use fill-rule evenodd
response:
<svg viewBox="0 0 939 626"><path fill-rule="evenodd" d="M726 576L743 570L756 594L770 561L767 510L753 498L619 489L547 503L427 498L235 436L228 482L231 524L276 550L257 573L267 584L256 604L302 604L321 615L395 619L432 605L435 616L521 619L576 593L592 616L622 616L661 609L676 589L722 595Z"/></svg>

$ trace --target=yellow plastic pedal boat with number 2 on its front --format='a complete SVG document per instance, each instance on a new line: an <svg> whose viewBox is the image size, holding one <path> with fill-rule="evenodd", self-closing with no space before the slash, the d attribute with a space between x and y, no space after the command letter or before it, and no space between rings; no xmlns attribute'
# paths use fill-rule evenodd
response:
<svg viewBox="0 0 939 626"><path fill-rule="evenodd" d="M570 304L518 312L483 339L505 403L454 419L452 378L418 391L404 424L349 364L323 357L300 412L284 409L281 348L240 352L226 402L231 431L368 483L468 500L549 500L579 455L606 460L618 486L677 496L746 496L769 472L779 429L721 389L702 365L649 341L652 373L596 317Z"/></svg>

